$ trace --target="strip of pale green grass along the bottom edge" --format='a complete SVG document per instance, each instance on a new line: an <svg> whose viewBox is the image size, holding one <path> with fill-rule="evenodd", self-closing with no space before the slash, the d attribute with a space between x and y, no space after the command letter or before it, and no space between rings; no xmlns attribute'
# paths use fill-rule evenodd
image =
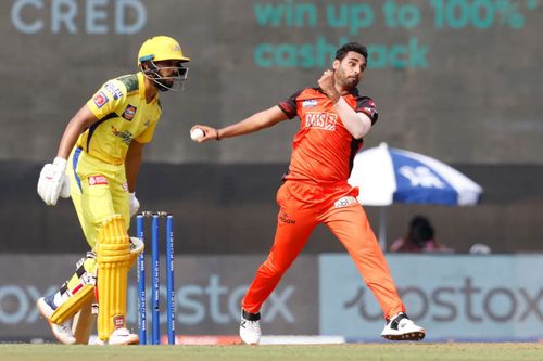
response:
<svg viewBox="0 0 543 361"><path fill-rule="evenodd" d="M0 360L36 361L542 361L543 344L350 344L318 346L62 346L0 344Z"/></svg>

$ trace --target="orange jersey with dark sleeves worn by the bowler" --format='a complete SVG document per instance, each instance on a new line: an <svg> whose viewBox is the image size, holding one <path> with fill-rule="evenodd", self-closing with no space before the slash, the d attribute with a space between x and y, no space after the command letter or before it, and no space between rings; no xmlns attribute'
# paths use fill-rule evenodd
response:
<svg viewBox="0 0 543 361"><path fill-rule="evenodd" d="M377 107L370 98L361 96L355 89L343 99L355 112L366 114L371 124L377 121ZM278 105L290 119L296 115L300 118L285 179L319 183L346 181L363 139L351 136L332 101L319 88L305 88Z"/></svg>

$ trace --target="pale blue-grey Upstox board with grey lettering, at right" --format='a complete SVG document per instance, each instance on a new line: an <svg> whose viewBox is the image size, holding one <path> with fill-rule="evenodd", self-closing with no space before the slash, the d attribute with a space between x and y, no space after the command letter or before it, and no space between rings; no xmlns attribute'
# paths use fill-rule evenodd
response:
<svg viewBox="0 0 543 361"><path fill-rule="evenodd" d="M407 314L427 330L429 340L523 340L543 335L542 256L387 258ZM321 334L379 338L382 312L349 256L320 257L319 294Z"/></svg>

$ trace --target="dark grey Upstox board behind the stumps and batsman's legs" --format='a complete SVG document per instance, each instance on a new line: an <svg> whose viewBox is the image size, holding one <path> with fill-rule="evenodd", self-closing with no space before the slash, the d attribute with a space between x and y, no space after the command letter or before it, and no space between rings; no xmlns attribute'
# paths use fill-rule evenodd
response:
<svg viewBox="0 0 543 361"><path fill-rule="evenodd" d="M148 257L150 258L150 257ZM175 311L178 335L237 335L240 302L265 256L176 256ZM53 339L36 300L73 274L78 255L0 256L0 340ZM166 330L166 276L161 268L161 324ZM147 272L148 321L151 280ZM137 330L135 270L128 286L127 323ZM266 334L318 333L317 258L300 257L265 302Z"/></svg>

